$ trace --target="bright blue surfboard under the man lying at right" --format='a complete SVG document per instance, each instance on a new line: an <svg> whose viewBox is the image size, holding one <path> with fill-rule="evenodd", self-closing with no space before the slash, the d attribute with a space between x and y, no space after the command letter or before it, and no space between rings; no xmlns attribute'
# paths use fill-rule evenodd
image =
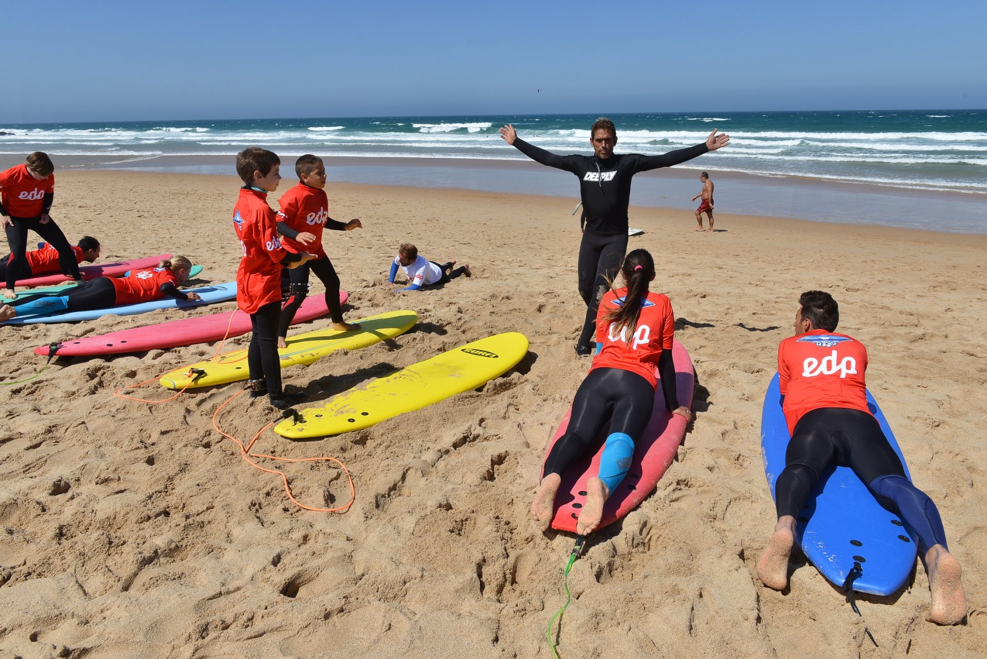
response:
<svg viewBox="0 0 987 659"><path fill-rule="evenodd" d="M887 419L867 393L868 406L894 452L905 464ZM778 374L771 379L761 415L761 451L764 472L775 497L775 481L785 469L789 428L782 413ZM905 467L905 476L908 467ZM796 542L824 577L843 586L859 565L861 575L853 589L872 595L897 591L915 566L915 539L901 520L877 503L871 491L849 467L830 467L819 479L808 502L798 515Z"/></svg>

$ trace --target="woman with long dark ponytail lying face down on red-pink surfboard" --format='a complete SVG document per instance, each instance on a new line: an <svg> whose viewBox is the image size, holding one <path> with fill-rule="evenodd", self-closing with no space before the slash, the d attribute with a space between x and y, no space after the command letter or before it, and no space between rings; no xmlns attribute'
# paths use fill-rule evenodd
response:
<svg viewBox="0 0 987 659"><path fill-rule="evenodd" d="M647 290L654 279L654 260L645 250L635 250L621 266L625 287L610 290L596 314L596 340L602 345L593 358L586 379L572 400L569 430L552 447L531 513L542 531L552 522L556 493L569 465L585 453L599 449L594 441L610 420L610 434L600 459L598 476L589 478L586 504L576 533L592 533L603 516L603 503L627 475L634 456L634 442L651 418L657 378L665 406L688 420L692 412L678 406L672 338L675 317L668 297Z"/></svg>

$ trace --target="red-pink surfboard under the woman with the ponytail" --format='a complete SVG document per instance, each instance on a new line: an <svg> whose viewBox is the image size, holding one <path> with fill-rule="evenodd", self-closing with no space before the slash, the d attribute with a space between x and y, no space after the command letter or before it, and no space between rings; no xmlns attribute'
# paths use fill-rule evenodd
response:
<svg viewBox="0 0 987 659"><path fill-rule="evenodd" d="M678 403L691 409L692 391L695 385L692 359L678 341L672 344L672 362L675 364ZM546 459L555 443L566 434L571 413L570 407L562 423L559 424L559 430L549 443L549 448L545 452ZM600 457L603 455L603 443L609 434L609 425L609 422L604 425L597 435L600 448L595 455L583 456L572 463L563 475L562 485L556 495L556 512L552 518L553 529L575 533L579 511L586 502L586 481L600 471ZM665 410L665 397L661 392L661 383L658 382L654 391L654 411L651 413L651 420L647 422L642 437L635 441L634 459L628 475L617 486L617 491L611 493L603 506L600 529L627 515L651 493L675 459L675 453L685 435L686 425L684 417Z"/></svg>

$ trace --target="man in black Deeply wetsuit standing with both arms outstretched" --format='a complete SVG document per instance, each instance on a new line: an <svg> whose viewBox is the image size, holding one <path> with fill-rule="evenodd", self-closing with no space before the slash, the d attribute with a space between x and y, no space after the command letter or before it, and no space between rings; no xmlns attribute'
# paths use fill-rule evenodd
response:
<svg viewBox="0 0 987 659"><path fill-rule="evenodd" d="M608 289L627 252L627 209L631 203L631 178L639 172L671 167L690 161L710 151L729 144L729 135L714 130L706 142L686 149L669 151L659 156L637 153L615 154L617 128L613 121L601 116L589 129L592 156L560 156L517 136L509 123L500 128L500 137L536 163L565 170L579 178L579 195L582 199L582 243L579 245L578 285L579 295L586 303L586 319L582 333L575 344L579 355L589 355L593 329L596 326L596 310L600 298Z"/></svg>

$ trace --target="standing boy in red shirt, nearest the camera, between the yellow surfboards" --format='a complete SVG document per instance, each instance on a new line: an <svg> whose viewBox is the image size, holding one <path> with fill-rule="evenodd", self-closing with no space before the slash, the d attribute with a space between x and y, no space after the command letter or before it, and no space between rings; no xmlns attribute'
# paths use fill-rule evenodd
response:
<svg viewBox="0 0 987 659"><path fill-rule="evenodd" d="M277 329L281 316L281 266L294 268L311 260L308 253L292 254L281 247L276 214L267 205L267 193L281 181L280 159L266 149L250 147L237 154L237 174L245 183L233 207L233 228L243 247L237 269L237 306L250 315L253 332L247 350L251 397L269 397L270 404L286 409L304 398L281 389Z"/></svg>

